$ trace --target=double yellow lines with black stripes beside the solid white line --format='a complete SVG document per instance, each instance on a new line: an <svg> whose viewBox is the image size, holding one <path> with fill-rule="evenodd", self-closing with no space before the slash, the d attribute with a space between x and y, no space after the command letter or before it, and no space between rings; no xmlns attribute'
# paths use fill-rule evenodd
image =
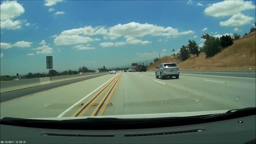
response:
<svg viewBox="0 0 256 144"><path fill-rule="evenodd" d="M116 76L113 80L111 80L106 86L104 86L99 92L97 92L88 102L86 102L81 108L79 108L72 116L82 116L90 107L90 104L93 104L100 98L100 96L107 90L108 92L105 94L105 96L102 98L98 106L94 109L91 116L102 116L104 111L106 110L106 107L108 105L108 102L110 101L110 98L112 94L114 93L114 90L116 89L116 86L118 85L118 82L120 81L120 78L122 76L122 73L119 76Z"/></svg>

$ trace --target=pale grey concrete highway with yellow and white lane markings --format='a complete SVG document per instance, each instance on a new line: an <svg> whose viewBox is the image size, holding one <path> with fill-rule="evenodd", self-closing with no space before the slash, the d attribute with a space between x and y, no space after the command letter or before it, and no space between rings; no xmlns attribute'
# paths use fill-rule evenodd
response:
<svg viewBox="0 0 256 144"><path fill-rule="evenodd" d="M181 72L179 79L161 80L155 78L154 72L117 72L2 102L0 117L106 116L255 107L255 71L249 75L232 73Z"/></svg>

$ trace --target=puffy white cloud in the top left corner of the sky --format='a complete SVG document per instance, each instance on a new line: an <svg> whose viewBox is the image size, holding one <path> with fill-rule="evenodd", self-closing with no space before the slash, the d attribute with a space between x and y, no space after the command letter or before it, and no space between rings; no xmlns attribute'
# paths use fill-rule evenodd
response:
<svg viewBox="0 0 256 144"><path fill-rule="evenodd" d="M0 5L0 27L1 29L16 30L26 20L13 20L25 12L25 9L17 1L4 1Z"/></svg>

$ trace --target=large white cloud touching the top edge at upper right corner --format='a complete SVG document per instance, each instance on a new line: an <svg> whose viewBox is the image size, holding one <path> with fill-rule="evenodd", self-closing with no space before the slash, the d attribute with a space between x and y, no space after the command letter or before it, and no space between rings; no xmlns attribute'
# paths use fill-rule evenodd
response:
<svg viewBox="0 0 256 144"><path fill-rule="evenodd" d="M214 17L232 16L250 9L255 9L255 5L252 4L252 1L244 2L243 0L225 0L207 7L204 10L204 13Z"/></svg>

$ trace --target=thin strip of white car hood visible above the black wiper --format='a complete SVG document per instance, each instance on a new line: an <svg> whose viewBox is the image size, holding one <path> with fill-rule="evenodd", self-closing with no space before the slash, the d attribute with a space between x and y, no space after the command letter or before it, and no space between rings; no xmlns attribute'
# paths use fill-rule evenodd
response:
<svg viewBox="0 0 256 144"><path fill-rule="evenodd" d="M29 118L38 120L74 120L85 118L166 118L166 117L183 117L183 116L200 116L206 114L224 113L228 110L214 110L202 112L174 112L174 113L160 113L160 114L126 114L126 115L112 115L112 116L79 116L79 117L60 117L60 118Z"/></svg>

